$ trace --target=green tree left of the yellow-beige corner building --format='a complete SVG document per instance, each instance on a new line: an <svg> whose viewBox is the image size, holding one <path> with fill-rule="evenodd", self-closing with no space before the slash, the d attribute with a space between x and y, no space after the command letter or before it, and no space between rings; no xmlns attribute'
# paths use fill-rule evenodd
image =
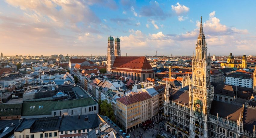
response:
<svg viewBox="0 0 256 138"><path fill-rule="evenodd" d="M108 103L107 100L101 101L99 100L99 114L102 116L108 116L113 122L116 122L116 118L114 116L114 110L111 107L111 104Z"/></svg>

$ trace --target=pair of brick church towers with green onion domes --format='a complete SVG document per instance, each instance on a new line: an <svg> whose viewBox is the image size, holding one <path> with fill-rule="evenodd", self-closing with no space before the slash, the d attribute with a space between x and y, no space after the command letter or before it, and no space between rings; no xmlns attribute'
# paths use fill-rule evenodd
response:
<svg viewBox="0 0 256 138"><path fill-rule="evenodd" d="M116 38L114 45L114 38L110 36L108 37L107 72L111 72L116 56L121 56L120 39Z"/></svg>

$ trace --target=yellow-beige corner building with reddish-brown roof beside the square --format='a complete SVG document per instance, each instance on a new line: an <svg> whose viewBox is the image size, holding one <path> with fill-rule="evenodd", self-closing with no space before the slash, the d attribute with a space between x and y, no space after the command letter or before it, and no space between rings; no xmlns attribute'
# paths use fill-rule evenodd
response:
<svg viewBox="0 0 256 138"><path fill-rule="evenodd" d="M131 132L151 119L152 98L147 92L117 98L117 124Z"/></svg>

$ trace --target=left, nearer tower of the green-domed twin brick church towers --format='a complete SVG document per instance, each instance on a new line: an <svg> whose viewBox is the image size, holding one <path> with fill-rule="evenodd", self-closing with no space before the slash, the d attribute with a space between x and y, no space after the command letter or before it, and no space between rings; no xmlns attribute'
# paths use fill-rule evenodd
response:
<svg viewBox="0 0 256 138"><path fill-rule="evenodd" d="M111 68L114 64L114 38L112 36L108 37L108 50L107 50L107 72L111 72Z"/></svg>

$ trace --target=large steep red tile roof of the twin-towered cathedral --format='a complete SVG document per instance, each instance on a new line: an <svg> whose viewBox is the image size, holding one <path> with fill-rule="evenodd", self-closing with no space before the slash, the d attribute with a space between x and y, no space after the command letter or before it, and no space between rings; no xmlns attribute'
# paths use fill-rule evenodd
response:
<svg viewBox="0 0 256 138"><path fill-rule="evenodd" d="M138 70L135 71L133 69L139 69L139 72L143 70L145 73L154 72L145 56L117 56L111 70L124 71L117 68L125 68L127 72L138 72Z"/></svg>

